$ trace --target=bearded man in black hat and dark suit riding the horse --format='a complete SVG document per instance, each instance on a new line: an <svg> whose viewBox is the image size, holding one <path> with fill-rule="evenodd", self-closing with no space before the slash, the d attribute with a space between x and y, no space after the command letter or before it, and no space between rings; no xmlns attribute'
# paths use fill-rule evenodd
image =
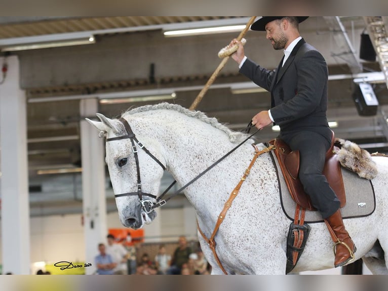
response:
<svg viewBox="0 0 388 291"><path fill-rule="evenodd" d="M255 84L271 92L271 108L252 118L258 129L271 123L280 126L279 138L299 150L299 179L313 206L322 214L335 238L334 266L352 260L356 246L342 222L340 202L322 174L325 155L331 145L327 111L328 68L324 57L299 35L298 25L307 17L264 16L252 24L252 30L266 31L274 49L284 49L284 57L275 70L267 70L248 59L240 41L232 58L240 72Z"/></svg>

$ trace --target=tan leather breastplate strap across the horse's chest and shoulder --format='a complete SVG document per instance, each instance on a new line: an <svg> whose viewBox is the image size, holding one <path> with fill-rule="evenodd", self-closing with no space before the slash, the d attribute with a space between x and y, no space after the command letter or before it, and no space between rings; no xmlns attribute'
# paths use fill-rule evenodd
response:
<svg viewBox="0 0 388 291"><path fill-rule="evenodd" d="M228 209L230 208L231 206L231 203L232 201L236 198L237 194L239 194L239 191L240 191L240 188L241 186L243 185L245 179L247 178L247 176L249 175L249 172L251 171L251 168L253 166L253 164L255 163L256 159L258 156L264 154L264 153L267 153L267 152L270 152L271 150L273 150L275 148L274 145L270 145L268 148L265 148L261 151L259 151L256 147L256 145L252 144L253 147L255 148L255 155L253 156L252 158L252 161L251 163L249 164L248 168L245 170L245 173L244 175L241 177L240 181L239 181L239 184L237 184L237 186L235 187L235 189L230 193L230 196L229 196L229 199L225 202L224 204L224 208L222 209L221 213L218 215L218 220L217 220L217 223L214 227L214 230L213 230L213 233L211 235L211 237L208 239L205 234L202 232L199 224L198 224L198 221L197 221L197 228L200 232L200 234L202 235L202 237L206 240L206 242L208 243L210 249L212 250L213 252L213 255L214 255L214 258L216 259L217 261L217 264L218 266L221 268L222 272L227 275L227 272L225 271L225 269L222 267L222 264L217 256L217 252L216 252L216 242L214 240L214 237L216 236L217 232L218 232L218 229L221 225L221 223L223 222L224 218L225 218L225 215L226 215L226 212L228 211Z"/></svg>

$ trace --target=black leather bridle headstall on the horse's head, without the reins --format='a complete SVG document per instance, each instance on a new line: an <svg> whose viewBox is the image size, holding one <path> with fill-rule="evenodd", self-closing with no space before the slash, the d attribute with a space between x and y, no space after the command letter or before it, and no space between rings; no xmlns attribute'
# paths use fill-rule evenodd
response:
<svg viewBox="0 0 388 291"><path fill-rule="evenodd" d="M159 161L154 155L152 155L145 147L144 145L136 138L135 134L133 133L131 126L129 123L124 119L120 118L120 122L124 125L125 130L127 131L127 135L122 135L118 137L111 137L107 138L106 141L113 141L113 140L120 140L120 139L126 139L129 138L131 140L131 145L132 145L132 152L135 156L135 162L136 162L136 171L137 171L137 192L129 192L129 193L123 193L123 194L115 194L114 197L122 197L122 196L138 196L139 201L141 203L141 206L143 210L146 213L150 213L153 210L153 205L154 203L151 202L150 200L143 200L143 196L148 196L154 199L157 199L155 195L149 194L149 193L144 193L141 191L141 178L140 178L140 165L139 165L139 158L137 154L137 148L136 144L139 146L140 149L142 149L148 156L150 156L154 161L156 161L163 170L166 169L166 167L162 164L161 161Z"/></svg>

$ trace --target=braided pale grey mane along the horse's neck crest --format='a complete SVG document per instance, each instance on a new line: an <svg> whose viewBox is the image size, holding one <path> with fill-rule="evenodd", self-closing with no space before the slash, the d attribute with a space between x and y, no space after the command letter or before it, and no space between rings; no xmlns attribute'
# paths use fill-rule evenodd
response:
<svg viewBox="0 0 388 291"><path fill-rule="evenodd" d="M232 142L232 143L241 142L242 140L244 140L248 136L245 133L230 130L224 124L219 123L216 118L207 117L206 114L201 112L201 111L189 110L187 108L182 107L181 105L171 104L171 103L167 103L167 102L163 102L163 103L159 103L159 104L155 104L155 105L144 105L144 106L136 107L133 109L129 109L128 111L126 111L122 114L122 117L124 118L127 115L131 115L131 114L135 114L135 113L147 112L147 111L151 111L151 110L161 110L161 109L174 110L174 111L182 113L188 117L197 118L197 119L199 119L207 124L210 124L211 126L225 132L228 135L230 142Z"/></svg>

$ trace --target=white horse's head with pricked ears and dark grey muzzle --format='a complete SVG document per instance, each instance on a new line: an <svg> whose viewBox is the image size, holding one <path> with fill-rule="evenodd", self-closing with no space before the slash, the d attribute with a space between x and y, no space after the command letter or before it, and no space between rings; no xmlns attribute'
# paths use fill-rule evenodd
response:
<svg viewBox="0 0 388 291"><path fill-rule="evenodd" d="M120 221L126 227L141 228L144 224L151 223L156 217L154 210L145 211L142 206L144 203L146 206L154 203L163 175L163 168L141 149L143 145L146 149L150 149L151 155L164 165L166 161L160 144L152 136L142 136L141 143L135 141L134 146L129 142L130 138L114 139L114 137L128 136L124 124L102 114L97 114L97 116L101 122L87 120L100 130L100 137L105 136L107 141L111 141L106 142L105 162L108 165L113 191L117 196L116 204ZM141 133L141 127L137 126L136 131ZM113 140L110 140L111 138ZM135 154L139 161L141 184L138 183ZM126 193L132 195L120 196Z"/></svg>

